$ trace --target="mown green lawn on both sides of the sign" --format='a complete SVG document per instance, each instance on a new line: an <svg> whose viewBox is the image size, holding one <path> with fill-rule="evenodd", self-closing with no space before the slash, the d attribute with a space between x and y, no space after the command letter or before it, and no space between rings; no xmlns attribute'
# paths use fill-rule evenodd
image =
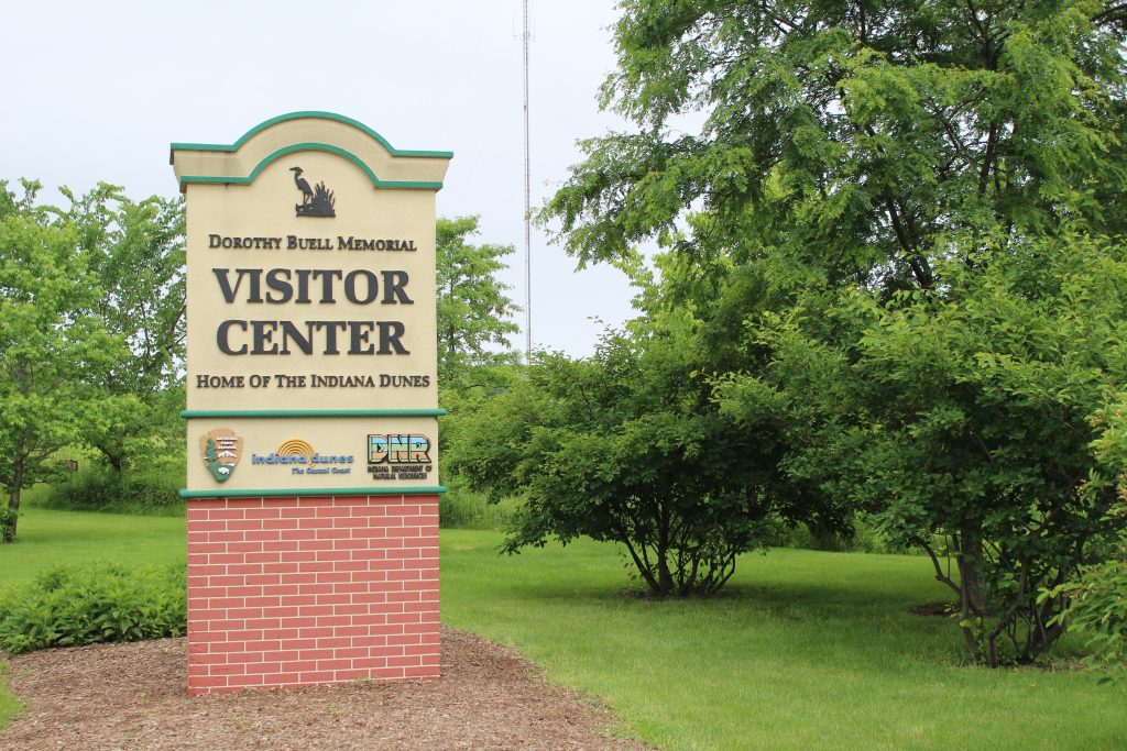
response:
<svg viewBox="0 0 1127 751"><path fill-rule="evenodd" d="M517 646L662 748L1127 748L1127 687L962 665L947 619L907 613L946 597L926 560L773 551L744 556L719 598L650 601L613 547L500 557L499 542L443 530L443 620ZM95 558L183 561L183 521L29 509L0 571Z"/></svg>

